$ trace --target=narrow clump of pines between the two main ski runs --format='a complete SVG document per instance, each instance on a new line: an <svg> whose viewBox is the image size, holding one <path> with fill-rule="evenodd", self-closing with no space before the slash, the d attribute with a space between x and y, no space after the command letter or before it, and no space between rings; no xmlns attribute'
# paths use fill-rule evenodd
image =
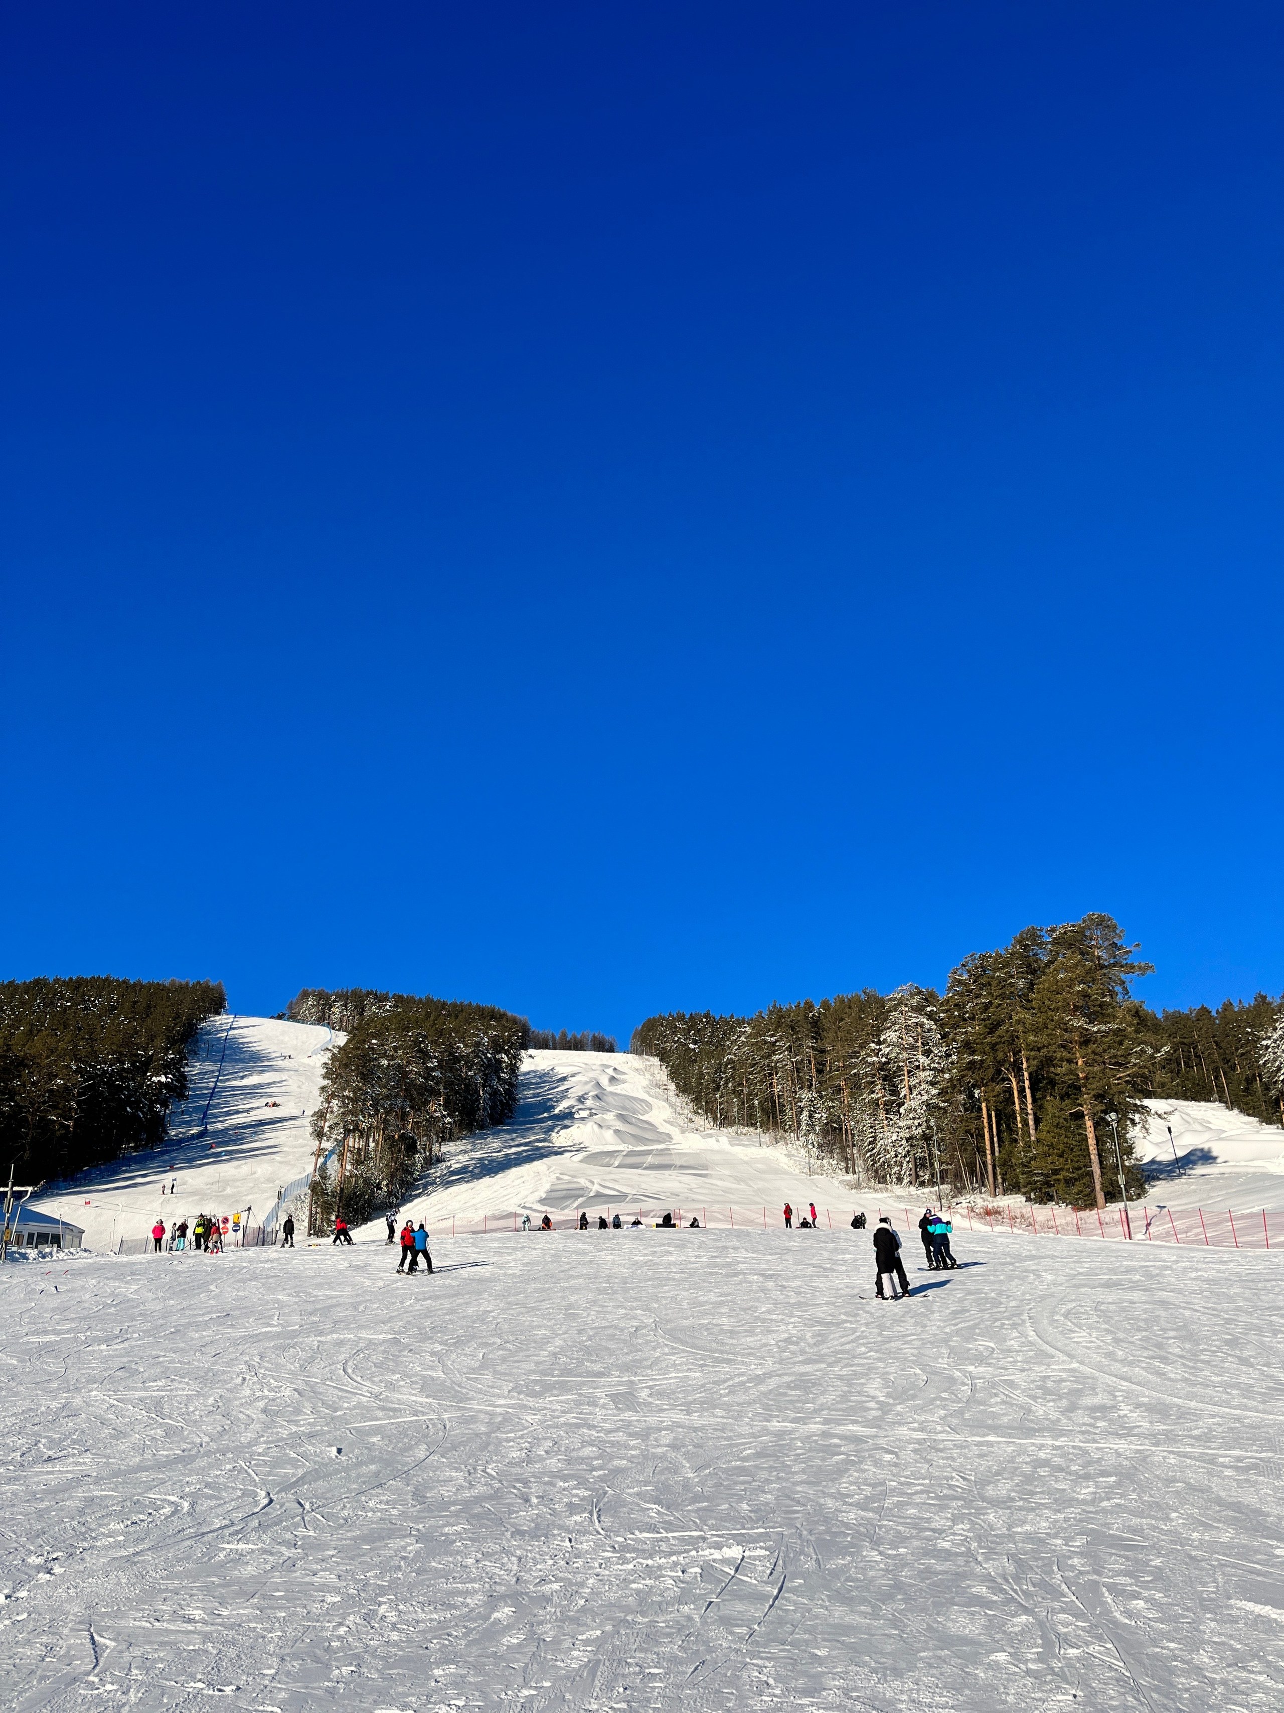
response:
<svg viewBox="0 0 1284 1713"><path fill-rule="evenodd" d="M317 1153L337 1149L313 1185L312 1221L351 1223L395 1206L452 1136L510 1119L531 1035L495 1006L348 988L305 990L291 1021L329 1023L348 1040L329 1055Z"/></svg>

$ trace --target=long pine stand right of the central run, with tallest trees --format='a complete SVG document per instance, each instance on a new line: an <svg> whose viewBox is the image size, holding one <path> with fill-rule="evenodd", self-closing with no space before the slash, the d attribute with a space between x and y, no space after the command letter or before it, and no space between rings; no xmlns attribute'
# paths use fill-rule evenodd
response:
<svg viewBox="0 0 1284 1713"><path fill-rule="evenodd" d="M1159 1018L1132 997L1149 970L1135 949L1089 915L974 952L943 995L906 985L649 1018L632 1048L714 1124L796 1137L853 1175L1101 1206L1120 1175L1140 1194L1130 1127L1147 1096L1284 1112L1281 1006Z"/></svg>

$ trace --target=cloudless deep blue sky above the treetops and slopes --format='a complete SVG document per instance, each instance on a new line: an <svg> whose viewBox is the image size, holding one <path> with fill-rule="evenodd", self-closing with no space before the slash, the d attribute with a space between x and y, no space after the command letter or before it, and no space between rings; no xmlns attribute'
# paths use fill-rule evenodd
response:
<svg viewBox="0 0 1284 1713"><path fill-rule="evenodd" d="M10 9L0 973L1284 988L1284 17Z"/></svg>

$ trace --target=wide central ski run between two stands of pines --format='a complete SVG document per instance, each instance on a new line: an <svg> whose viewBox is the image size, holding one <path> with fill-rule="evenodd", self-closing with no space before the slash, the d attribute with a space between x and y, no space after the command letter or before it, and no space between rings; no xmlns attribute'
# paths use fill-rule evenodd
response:
<svg viewBox="0 0 1284 1713"><path fill-rule="evenodd" d="M532 1052L514 1120L450 1149L404 1211L430 1230L577 1209L707 1211L722 1221L731 1208L757 1220L765 1209L779 1223L786 1201L800 1213L834 1203L835 1220L844 1208L851 1218L851 1196L834 1179L808 1177L752 1134L697 1129L654 1059Z"/></svg>

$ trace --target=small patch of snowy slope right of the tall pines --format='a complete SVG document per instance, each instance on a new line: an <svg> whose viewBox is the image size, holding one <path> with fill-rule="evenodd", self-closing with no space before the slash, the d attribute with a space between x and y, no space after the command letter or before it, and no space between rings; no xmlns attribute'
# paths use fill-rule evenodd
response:
<svg viewBox="0 0 1284 1713"><path fill-rule="evenodd" d="M1150 1119L1135 1148L1152 1204L1284 1208L1284 1129L1207 1100L1150 1100L1147 1107Z"/></svg>

